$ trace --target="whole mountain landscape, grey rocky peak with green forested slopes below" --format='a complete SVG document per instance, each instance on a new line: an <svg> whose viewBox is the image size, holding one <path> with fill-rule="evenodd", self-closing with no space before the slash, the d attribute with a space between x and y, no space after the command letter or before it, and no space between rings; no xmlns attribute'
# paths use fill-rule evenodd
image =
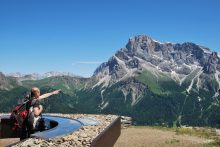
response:
<svg viewBox="0 0 220 147"><path fill-rule="evenodd" d="M19 92L33 85L44 92L62 89L54 101L46 100L47 112L128 115L142 125L220 127L219 59L217 52L194 43L161 43L139 35L91 78L20 80Z"/></svg>

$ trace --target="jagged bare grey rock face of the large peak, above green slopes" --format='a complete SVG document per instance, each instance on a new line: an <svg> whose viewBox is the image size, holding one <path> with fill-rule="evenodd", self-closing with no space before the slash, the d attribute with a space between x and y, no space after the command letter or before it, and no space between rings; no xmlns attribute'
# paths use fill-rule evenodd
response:
<svg viewBox="0 0 220 147"><path fill-rule="evenodd" d="M114 84L134 77L144 70L169 73L181 84L193 70L200 74L215 74L220 71L217 52L194 43L160 43L144 35L129 39L126 48L120 49L108 62L94 72L98 84ZM218 74L219 75L219 74Z"/></svg>

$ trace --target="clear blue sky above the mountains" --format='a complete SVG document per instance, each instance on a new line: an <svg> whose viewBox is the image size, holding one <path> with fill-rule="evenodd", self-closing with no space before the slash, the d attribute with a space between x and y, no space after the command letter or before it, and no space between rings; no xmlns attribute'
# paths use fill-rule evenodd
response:
<svg viewBox="0 0 220 147"><path fill-rule="evenodd" d="M1 0L0 71L90 76L139 34L220 51L220 1Z"/></svg>

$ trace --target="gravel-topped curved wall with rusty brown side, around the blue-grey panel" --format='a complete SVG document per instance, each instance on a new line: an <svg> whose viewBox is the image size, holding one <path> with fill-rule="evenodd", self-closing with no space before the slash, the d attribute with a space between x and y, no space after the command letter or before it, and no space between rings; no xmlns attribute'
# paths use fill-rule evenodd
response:
<svg viewBox="0 0 220 147"><path fill-rule="evenodd" d="M32 136L24 141L13 144L12 146L113 146L120 135L120 117L115 115L90 115L90 114L49 114L50 119L55 117L65 117L71 119L84 120L85 125L76 129L72 133L53 136L52 138L42 139L43 137ZM89 118L86 121L85 118ZM98 123L94 123L96 120ZM116 126L116 120L117 126ZM89 123L94 123L89 125ZM70 126L71 127L71 126ZM68 129L68 127L66 128ZM35 138L37 137L37 138Z"/></svg>

